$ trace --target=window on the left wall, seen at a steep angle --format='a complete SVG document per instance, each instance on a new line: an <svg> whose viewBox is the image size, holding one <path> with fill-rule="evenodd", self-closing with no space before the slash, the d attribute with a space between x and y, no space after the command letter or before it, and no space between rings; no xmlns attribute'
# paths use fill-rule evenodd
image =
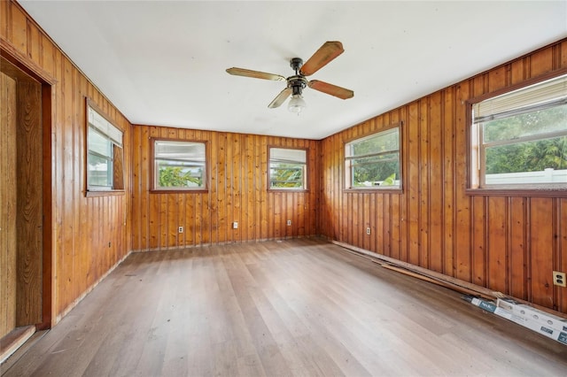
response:
<svg viewBox="0 0 567 377"><path fill-rule="evenodd" d="M124 189L122 131L87 104L87 191Z"/></svg>

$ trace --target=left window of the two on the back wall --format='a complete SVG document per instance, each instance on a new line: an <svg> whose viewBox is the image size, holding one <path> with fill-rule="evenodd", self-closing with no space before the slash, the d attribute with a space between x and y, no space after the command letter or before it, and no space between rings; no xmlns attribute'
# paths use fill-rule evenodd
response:
<svg viewBox="0 0 567 377"><path fill-rule="evenodd" d="M153 139L153 189L206 189L206 144Z"/></svg>

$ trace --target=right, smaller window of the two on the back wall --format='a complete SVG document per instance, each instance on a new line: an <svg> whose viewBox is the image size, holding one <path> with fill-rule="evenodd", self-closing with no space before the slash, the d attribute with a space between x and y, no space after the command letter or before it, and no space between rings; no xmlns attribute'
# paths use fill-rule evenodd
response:
<svg viewBox="0 0 567 377"><path fill-rule="evenodd" d="M307 150L269 149L269 188L307 189Z"/></svg>

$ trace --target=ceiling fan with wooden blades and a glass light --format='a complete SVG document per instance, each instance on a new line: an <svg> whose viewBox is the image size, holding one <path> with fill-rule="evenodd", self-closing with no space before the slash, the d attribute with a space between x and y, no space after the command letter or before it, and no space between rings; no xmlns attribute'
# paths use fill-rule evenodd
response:
<svg viewBox="0 0 567 377"><path fill-rule="evenodd" d="M301 58L292 58L290 60L290 65L295 71L295 74L288 78L285 78L280 74L252 71L236 67L227 69L227 72L237 76L252 77L255 79L287 81L286 88L284 88L280 94L278 94L276 98L268 104L268 107L270 109L279 107L283 104L283 102L285 102L288 96L291 96L290 103L288 104L288 110L299 114L299 112L306 107L305 100L303 99L303 96L301 96L305 87L309 87L341 99L352 98L354 96L353 90L341 88L337 85L324 81L307 81L306 79L306 76L310 76L319 71L323 66L327 65L334 58L337 58L344 51L345 50L343 49L343 44L341 42L324 42L319 50L316 50L315 54L313 54L313 56L309 58L305 64Z"/></svg>

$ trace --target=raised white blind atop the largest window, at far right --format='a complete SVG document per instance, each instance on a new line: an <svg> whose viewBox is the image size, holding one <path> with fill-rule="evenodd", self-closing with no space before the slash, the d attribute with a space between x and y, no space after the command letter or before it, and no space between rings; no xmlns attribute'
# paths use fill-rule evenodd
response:
<svg viewBox="0 0 567 377"><path fill-rule="evenodd" d="M474 123L567 103L567 74L473 104Z"/></svg>

